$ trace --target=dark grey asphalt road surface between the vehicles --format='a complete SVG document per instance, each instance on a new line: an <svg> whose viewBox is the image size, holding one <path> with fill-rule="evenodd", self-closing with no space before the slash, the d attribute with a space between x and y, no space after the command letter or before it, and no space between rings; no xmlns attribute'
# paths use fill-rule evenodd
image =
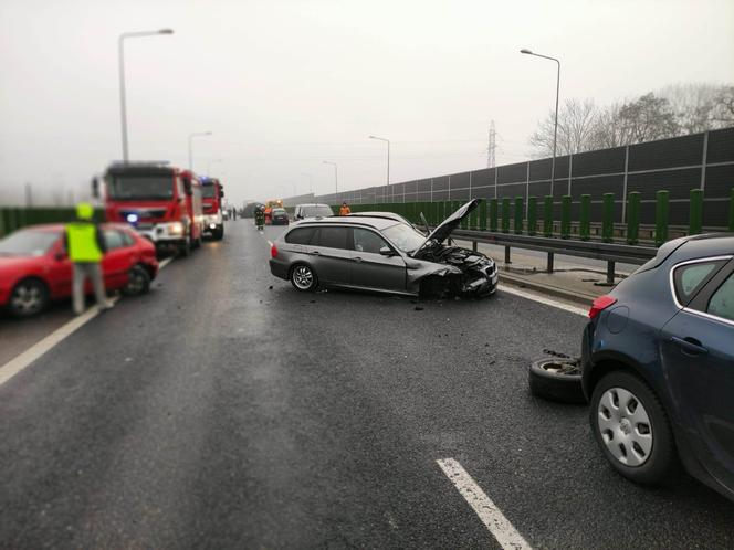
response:
<svg viewBox="0 0 734 550"><path fill-rule="evenodd" d="M534 548L734 547L734 504L623 480L585 408L528 394L583 317L298 294L280 231L229 223L0 387L0 547L499 548L442 458Z"/></svg>

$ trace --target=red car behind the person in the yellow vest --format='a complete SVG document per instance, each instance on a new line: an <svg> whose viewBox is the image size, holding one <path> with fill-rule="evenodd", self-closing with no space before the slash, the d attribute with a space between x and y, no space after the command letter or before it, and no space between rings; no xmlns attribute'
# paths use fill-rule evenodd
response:
<svg viewBox="0 0 734 550"><path fill-rule="evenodd" d="M156 248L128 225L103 224L107 253L102 272L108 290L145 294L158 274ZM72 294L72 263L63 225L32 225L0 240L0 307L18 317L42 311ZM87 281L86 292L92 290Z"/></svg>

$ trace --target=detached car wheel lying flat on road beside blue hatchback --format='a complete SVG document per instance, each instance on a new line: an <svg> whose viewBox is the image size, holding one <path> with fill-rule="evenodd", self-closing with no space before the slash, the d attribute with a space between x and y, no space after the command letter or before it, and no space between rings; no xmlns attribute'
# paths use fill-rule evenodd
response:
<svg viewBox="0 0 734 550"><path fill-rule="evenodd" d="M581 373L576 359L545 357L531 363L527 376L531 393L562 403L586 403Z"/></svg>

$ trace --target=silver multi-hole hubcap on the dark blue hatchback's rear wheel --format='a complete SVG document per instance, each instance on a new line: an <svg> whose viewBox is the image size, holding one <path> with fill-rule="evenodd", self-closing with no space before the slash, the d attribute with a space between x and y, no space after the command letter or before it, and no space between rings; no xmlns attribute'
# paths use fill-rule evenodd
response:
<svg viewBox="0 0 734 550"><path fill-rule="evenodd" d="M642 466L653 444L652 423L642 402L629 390L610 388L601 395L597 413L609 453L626 466Z"/></svg>

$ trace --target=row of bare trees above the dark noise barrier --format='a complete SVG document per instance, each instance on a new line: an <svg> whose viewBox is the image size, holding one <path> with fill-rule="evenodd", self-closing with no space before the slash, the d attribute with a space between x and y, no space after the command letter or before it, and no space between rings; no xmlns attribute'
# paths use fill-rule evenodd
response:
<svg viewBox="0 0 734 550"><path fill-rule="evenodd" d="M529 138L535 158L553 156L555 112ZM734 126L734 86L673 84L639 97L597 106L567 99L558 109L557 155L620 147L641 141Z"/></svg>

